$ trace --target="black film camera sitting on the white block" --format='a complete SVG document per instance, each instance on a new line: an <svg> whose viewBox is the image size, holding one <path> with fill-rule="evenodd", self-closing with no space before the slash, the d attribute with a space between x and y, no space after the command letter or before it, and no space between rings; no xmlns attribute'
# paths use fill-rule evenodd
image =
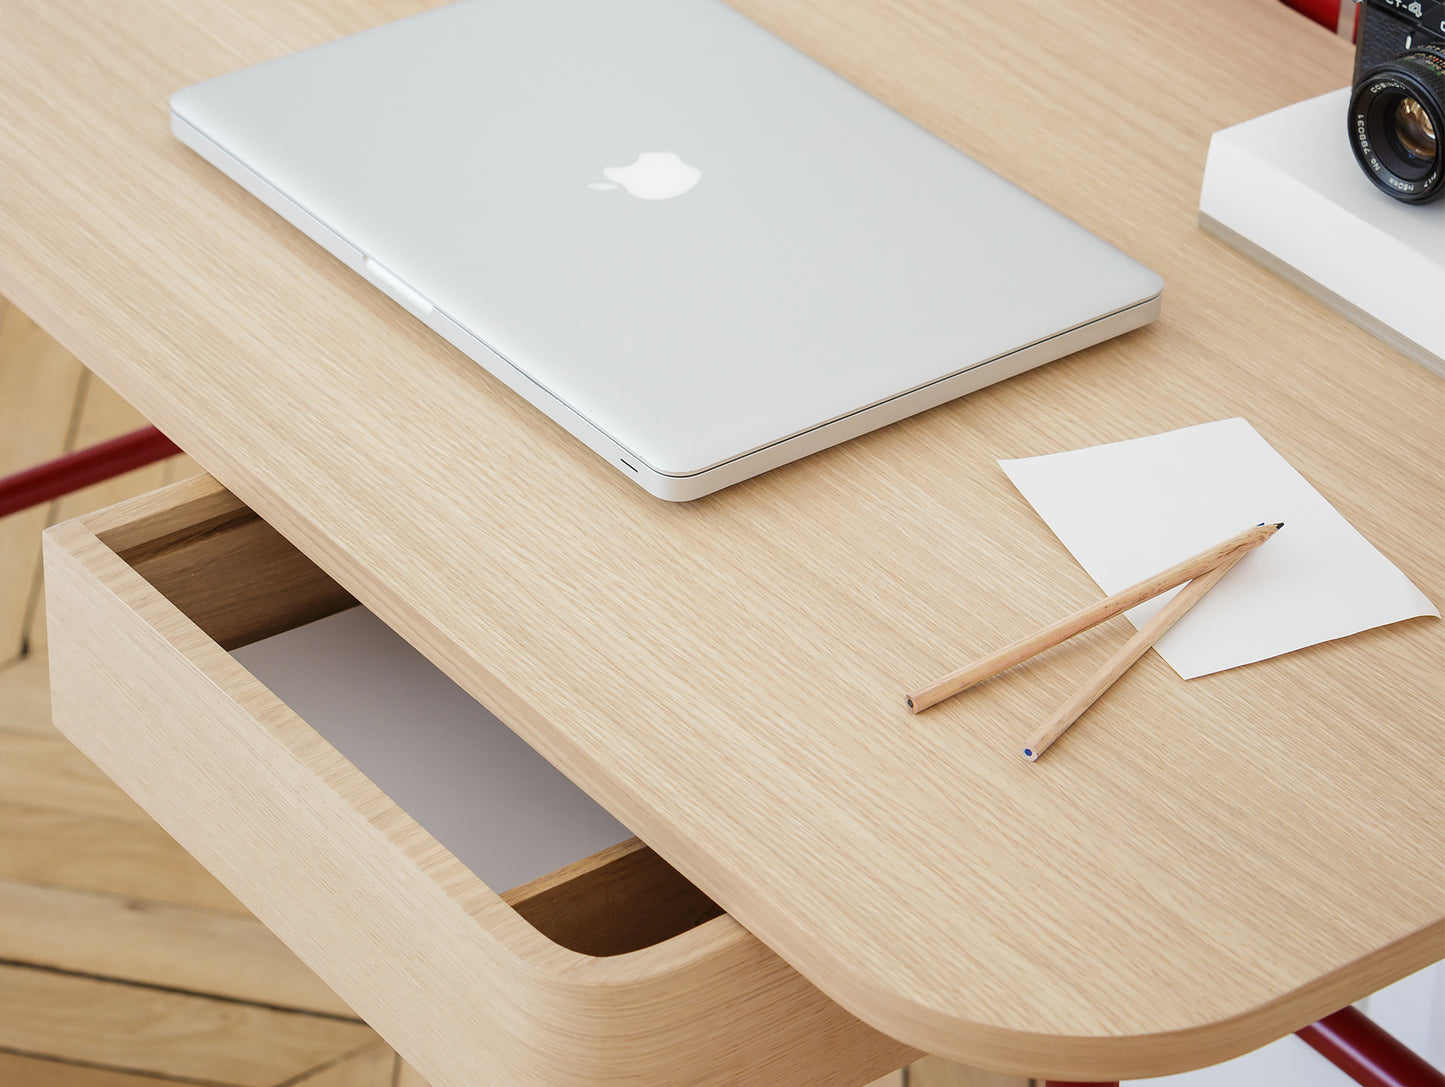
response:
<svg viewBox="0 0 1445 1087"><path fill-rule="evenodd" d="M1407 204L1445 195L1445 0L1363 0L1350 146Z"/></svg>

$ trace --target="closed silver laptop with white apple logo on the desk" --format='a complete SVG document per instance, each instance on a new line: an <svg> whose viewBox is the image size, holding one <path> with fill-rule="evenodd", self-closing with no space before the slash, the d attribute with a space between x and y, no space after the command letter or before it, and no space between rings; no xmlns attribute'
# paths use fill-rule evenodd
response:
<svg viewBox="0 0 1445 1087"><path fill-rule="evenodd" d="M1153 272L715 0L462 0L171 110L663 499L1159 311Z"/></svg>

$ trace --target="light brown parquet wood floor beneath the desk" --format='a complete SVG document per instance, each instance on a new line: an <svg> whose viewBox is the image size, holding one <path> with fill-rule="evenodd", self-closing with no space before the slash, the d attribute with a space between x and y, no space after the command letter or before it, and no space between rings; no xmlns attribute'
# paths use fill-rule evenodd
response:
<svg viewBox="0 0 1445 1087"><path fill-rule="evenodd" d="M144 422L0 299L0 476ZM0 1087L426 1087L51 724L40 530L198 470L0 519ZM871 1087L905 1083L1027 1081L929 1060Z"/></svg>

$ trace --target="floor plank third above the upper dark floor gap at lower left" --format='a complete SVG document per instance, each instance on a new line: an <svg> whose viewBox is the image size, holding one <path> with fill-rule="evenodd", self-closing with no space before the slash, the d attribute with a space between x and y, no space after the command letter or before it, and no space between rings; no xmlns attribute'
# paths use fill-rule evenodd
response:
<svg viewBox="0 0 1445 1087"><path fill-rule="evenodd" d="M0 733L0 801L152 822L140 805L59 734Z"/></svg>

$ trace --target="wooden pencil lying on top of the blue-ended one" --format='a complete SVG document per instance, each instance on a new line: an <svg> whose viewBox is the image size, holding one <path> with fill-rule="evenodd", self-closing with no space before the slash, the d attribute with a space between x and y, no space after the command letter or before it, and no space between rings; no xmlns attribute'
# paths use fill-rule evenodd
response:
<svg viewBox="0 0 1445 1087"><path fill-rule="evenodd" d="M1251 529L1246 529L1238 535L1230 536L1228 539L1215 544L1212 548L1201 551L1198 555L1192 555L1182 562L1176 562L1168 570L1159 571L1153 577L1144 578L1129 588L1123 588L1113 596L1104 597L1095 604L1079 609L1072 616L1065 616L1059 622L1052 623L1027 637L1022 637L996 653L990 653L980 661L974 661L971 665L965 665L964 668L949 672L941 679L935 679L933 682L912 691L906 695L907 707L913 713L920 713L931 705L936 705L945 698L952 698L959 691L964 691L974 684L980 684L998 672L1007 671L1016 663L1042 653L1045 649L1052 649L1061 642L1066 642L1092 626L1098 626L1100 623L1104 623L1131 607L1143 604L1146 600L1153 600L1156 596L1168 593L1175 585L1182 585L1185 581L1192 581L1201 574L1207 574L1221 562L1246 555L1260 546L1282 528L1283 522L1276 525L1256 525Z"/></svg>

